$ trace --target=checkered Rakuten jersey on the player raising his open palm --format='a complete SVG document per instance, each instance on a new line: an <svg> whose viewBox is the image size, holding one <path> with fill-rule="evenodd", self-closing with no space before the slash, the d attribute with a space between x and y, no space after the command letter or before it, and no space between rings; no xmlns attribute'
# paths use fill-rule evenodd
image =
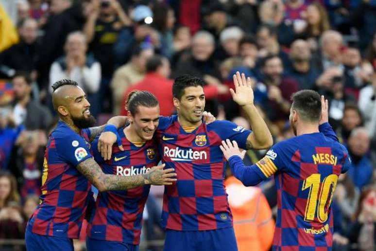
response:
<svg viewBox="0 0 376 251"><path fill-rule="evenodd" d="M177 116L160 117L156 131L165 168L174 168L177 181L165 186L162 225L180 231L232 227L224 188L226 160L220 145L230 139L245 148L250 130L229 121L202 124L186 132Z"/></svg>

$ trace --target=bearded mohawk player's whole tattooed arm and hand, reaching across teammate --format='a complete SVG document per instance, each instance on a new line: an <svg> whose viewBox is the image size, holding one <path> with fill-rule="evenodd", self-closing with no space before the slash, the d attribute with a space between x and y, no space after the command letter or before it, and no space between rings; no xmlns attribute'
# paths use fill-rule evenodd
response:
<svg viewBox="0 0 376 251"><path fill-rule="evenodd" d="M125 190L142 185L171 185L176 181L174 169L163 170L165 164L154 166L143 175L118 176L104 174L101 167L92 158L79 163L77 170L86 177L100 192L110 190Z"/></svg>

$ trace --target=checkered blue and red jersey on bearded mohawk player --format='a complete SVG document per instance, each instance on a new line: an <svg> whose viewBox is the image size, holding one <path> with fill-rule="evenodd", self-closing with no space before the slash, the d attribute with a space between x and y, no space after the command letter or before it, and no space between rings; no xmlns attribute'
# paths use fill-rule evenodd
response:
<svg viewBox="0 0 376 251"><path fill-rule="evenodd" d="M85 211L93 199L90 182L76 166L89 158L90 131L78 134L62 121L51 132L42 175L40 204L28 222L33 233L78 238Z"/></svg>

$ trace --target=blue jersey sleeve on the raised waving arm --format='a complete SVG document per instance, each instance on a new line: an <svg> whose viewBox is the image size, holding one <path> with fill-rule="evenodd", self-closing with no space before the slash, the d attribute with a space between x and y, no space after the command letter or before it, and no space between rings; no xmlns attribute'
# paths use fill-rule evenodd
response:
<svg viewBox="0 0 376 251"><path fill-rule="evenodd" d="M252 132L251 130L247 130L242 126L226 120L215 121L209 124L208 127L212 127L222 140L229 139L236 141L242 149L246 149L247 138Z"/></svg>

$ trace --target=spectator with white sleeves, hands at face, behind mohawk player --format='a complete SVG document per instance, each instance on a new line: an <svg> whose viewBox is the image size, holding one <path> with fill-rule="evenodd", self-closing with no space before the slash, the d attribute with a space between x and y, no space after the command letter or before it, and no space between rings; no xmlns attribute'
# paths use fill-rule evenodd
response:
<svg viewBox="0 0 376 251"><path fill-rule="evenodd" d="M69 78L78 83L86 92L96 117L100 110L99 88L101 83L101 64L90 55L86 55L87 43L82 32L72 32L67 36L65 55L51 65L49 91L56 81Z"/></svg>

